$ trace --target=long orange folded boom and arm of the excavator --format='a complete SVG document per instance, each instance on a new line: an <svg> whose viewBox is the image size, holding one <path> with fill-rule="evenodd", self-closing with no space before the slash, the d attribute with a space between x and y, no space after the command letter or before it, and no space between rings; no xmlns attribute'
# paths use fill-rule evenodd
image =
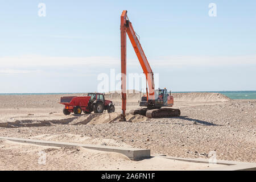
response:
<svg viewBox="0 0 256 182"><path fill-rule="evenodd" d="M147 61L147 57L139 43L139 39L133 29L130 20L127 17L127 10L123 10L121 15L121 92L122 92L122 121L125 121L126 111L126 33L129 36L130 42L133 45L134 51L138 57L139 63L141 64L144 75L146 76L148 90L146 88L147 101L155 99L155 85L154 85L154 74Z"/></svg>

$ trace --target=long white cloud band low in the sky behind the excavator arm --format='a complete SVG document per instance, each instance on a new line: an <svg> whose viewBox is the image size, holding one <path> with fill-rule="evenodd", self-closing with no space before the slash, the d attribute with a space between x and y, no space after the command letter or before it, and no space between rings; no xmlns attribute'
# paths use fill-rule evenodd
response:
<svg viewBox="0 0 256 182"><path fill-rule="evenodd" d="M184 67L184 66L224 66L224 65L255 65L256 55L245 56L165 56L148 59L154 67ZM90 57L61 57L61 56L5 56L0 57L1 73L26 73L27 68L58 67L58 68L114 68L121 65L119 57L90 56ZM137 59L127 57L127 66L138 66ZM23 68L26 70L16 70ZM7 70L6 70L7 69ZM91 69L92 70L92 69Z"/></svg>

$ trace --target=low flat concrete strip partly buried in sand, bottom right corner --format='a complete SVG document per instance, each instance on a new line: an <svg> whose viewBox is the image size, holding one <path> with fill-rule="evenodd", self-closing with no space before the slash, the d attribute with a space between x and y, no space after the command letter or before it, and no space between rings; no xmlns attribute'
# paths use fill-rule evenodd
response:
<svg viewBox="0 0 256 182"><path fill-rule="evenodd" d="M159 156L159 155L151 155L151 156ZM184 162L191 163L209 163L208 159L197 158L197 159L189 159L189 158L174 158L171 156L160 156L162 158L180 160ZM214 171L256 171L256 163L247 163L247 162L238 162L233 160L217 160L216 164L222 164L224 166L214 168L214 169L205 169L206 171L214 170Z"/></svg>

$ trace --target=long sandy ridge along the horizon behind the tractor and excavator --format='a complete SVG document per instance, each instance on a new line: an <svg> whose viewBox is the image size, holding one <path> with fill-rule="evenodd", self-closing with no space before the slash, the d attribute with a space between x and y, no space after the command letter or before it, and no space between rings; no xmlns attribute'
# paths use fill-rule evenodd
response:
<svg viewBox="0 0 256 182"><path fill-rule="evenodd" d="M60 97L63 96L84 96L86 93L74 94L51 94L51 95L15 95L0 96L0 108L46 108L63 107L59 104ZM127 93L127 105L138 106L140 96L139 92ZM191 92L191 93L172 93L175 102L223 102L230 98L220 93ZM106 100L112 100L115 105L121 105L120 93L106 93Z"/></svg>

